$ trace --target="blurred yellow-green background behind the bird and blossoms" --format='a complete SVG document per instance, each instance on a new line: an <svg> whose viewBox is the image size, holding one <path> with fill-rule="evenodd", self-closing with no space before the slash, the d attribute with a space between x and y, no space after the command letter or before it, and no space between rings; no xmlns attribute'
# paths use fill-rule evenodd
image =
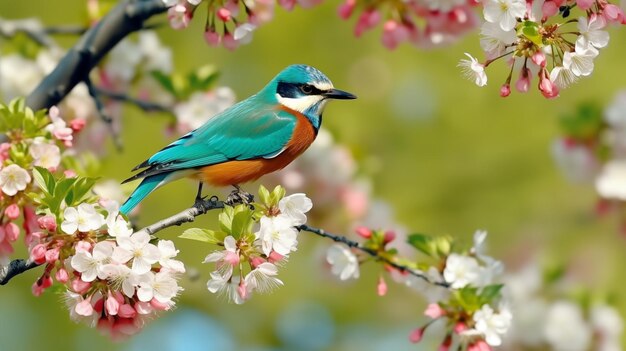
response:
<svg viewBox="0 0 626 351"><path fill-rule="evenodd" d="M2 1L0 16L75 24L83 21L84 6L80 0ZM490 67L485 88L462 79L456 67L464 52L482 56L477 31L443 49L403 45L390 52L381 46L378 31L355 39L353 21L340 20L337 6L328 1L291 13L277 8L275 19L235 52L204 43L202 13L187 30L163 26L159 34L174 49L176 70L212 63L222 72L220 85L232 87L238 99L256 92L286 65L319 68L335 86L359 96L331 104L324 125L353 151L361 172L372 178L375 195L393 206L400 223L468 243L474 230L486 229L490 253L508 269L530 260L566 263L582 288L614 294L625 312L621 279L626 242L616 217L594 215L593 187L568 183L552 160L550 145L559 132L560 114L581 101L607 104L626 87L626 31L612 30L591 77L558 99L544 99L535 82L530 93L513 92L502 99L499 86L508 73L503 62ZM66 45L73 41L61 40ZM132 166L169 142L165 123L165 117L127 108L126 148L122 153L111 148L103 176L127 177ZM181 181L157 191L145 201L140 224L189 205L194 189L195 184ZM315 200L315 194L310 196ZM197 223L212 222L203 218ZM173 228L162 236L178 233L180 228ZM425 321L419 295L390 282L389 294L378 297L380 268L375 265L363 266L358 282L337 283L322 269L328 245L305 234L300 250L281 271L285 286L236 306L206 291L210 268L200 262L208 248L177 241L182 259L200 278L182 282L185 292L174 313L121 343L72 323L55 294L33 297L30 285L37 272L31 271L0 288L0 349L434 349L407 340L408 332Z"/></svg>

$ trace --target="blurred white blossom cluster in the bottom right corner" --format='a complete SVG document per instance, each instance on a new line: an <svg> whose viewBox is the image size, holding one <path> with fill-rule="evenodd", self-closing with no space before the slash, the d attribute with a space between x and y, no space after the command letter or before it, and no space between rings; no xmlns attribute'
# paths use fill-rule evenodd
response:
<svg viewBox="0 0 626 351"><path fill-rule="evenodd" d="M505 346L556 351L622 349L624 321L618 311L605 299L572 297L571 291L580 289L563 274L546 272L534 262L507 274L504 282L504 294L515 316Z"/></svg>

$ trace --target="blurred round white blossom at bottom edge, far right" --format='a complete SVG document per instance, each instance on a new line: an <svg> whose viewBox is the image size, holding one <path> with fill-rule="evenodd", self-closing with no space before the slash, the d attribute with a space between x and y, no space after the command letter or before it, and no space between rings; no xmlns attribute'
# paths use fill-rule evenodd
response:
<svg viewBox="0 0 626 351"><path fill-rule="evenodd" d="M582 309L570 301L557 301L550 306L544 336L555 351L589 350L592 337Z"/></svg>

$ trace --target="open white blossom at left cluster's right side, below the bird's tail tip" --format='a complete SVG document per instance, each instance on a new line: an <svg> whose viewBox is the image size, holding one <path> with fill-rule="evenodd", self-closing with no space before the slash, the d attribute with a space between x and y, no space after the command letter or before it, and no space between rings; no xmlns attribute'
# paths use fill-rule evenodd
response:
<svg viewBox="0 0 626 351"><path fill-rule="evenodd" d="M126 263L133 260L132 270L141 275L149 272L152 265L161 257L159 249L150 244L150 235L146 232L137 232L131 236L117 237L117 246L113 251L113 260Z"/></svg>

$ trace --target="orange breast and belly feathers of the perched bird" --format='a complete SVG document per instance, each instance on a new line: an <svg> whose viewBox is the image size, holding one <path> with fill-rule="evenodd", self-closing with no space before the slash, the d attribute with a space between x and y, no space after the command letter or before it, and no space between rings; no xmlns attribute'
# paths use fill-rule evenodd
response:
<svg viewBox="0 0 626 351"><path fill-rule="evenodd" d="M297 117L298 121L291 140L285 150L270 159L255 158L241 161L227 161L201 169L200 176L208 184L227 186L259 179L261 176L287 166L306 150L315 140L315 130L301 113L281 106L280 109Z"/></svg>

